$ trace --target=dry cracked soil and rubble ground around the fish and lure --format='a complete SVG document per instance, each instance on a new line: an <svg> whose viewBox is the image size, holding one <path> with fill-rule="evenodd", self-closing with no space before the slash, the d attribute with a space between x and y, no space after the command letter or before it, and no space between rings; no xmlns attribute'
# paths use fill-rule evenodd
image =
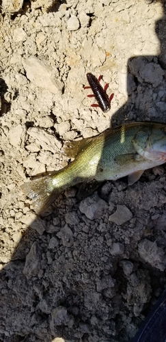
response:
<svg viewBox="0 0 166 342"><path fill-rule="evenodd" d="M2 0L0 341L129 342L165 289L166 168L77 187L36 215L20 185L68 163L64 142L166 122L166 5ZM111 109L91 107L86 73Z"/></svg>

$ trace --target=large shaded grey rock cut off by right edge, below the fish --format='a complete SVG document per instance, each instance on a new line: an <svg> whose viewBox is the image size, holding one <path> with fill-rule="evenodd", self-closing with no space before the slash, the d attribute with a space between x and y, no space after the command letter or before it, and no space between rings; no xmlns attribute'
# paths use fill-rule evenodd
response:
<svg viewBox="0 0 166 342"><path fill-rule="evenodd" d="M165 252L158 247L156 242L148 239L142 240L138 245L139 256L153 267L165 269Z"/></svg>

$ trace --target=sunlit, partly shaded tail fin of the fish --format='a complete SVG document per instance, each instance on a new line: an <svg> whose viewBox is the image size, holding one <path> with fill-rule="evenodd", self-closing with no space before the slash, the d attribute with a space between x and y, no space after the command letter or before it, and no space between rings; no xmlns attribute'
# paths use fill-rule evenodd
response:
<svg viewBox="0 0 166 342"><path fill-rule="evenodd" d="M24 183L21 189L33 200L33 209L38 214L45 211L61 193L61 189L53 189L50 175Z"/></svg>

